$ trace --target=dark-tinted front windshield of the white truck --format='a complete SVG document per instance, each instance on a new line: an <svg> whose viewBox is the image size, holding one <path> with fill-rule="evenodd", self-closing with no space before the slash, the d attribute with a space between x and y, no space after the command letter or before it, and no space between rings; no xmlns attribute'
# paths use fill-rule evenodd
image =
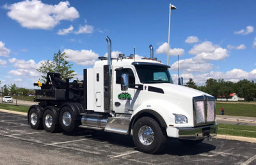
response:
<svg viewBox="0 0 256 165"><path fill-rule="evenodd" d="M169 70L164 66L135 65L141 83L172 83Z"/></svg>

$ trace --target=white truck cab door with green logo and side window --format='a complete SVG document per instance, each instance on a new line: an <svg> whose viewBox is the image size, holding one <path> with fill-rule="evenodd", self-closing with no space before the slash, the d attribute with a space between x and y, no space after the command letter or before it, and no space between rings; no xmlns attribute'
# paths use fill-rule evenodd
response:
<svg viewBox="0 0 256 165"><path fill-rule="evenodd" d="M128 74L129 85L135 84L135 77L132 68L115 68L113 77L113 110L115 113L132 113L138 107L138 92L132 88L126 91L121 90L122 74Z"/></svg>

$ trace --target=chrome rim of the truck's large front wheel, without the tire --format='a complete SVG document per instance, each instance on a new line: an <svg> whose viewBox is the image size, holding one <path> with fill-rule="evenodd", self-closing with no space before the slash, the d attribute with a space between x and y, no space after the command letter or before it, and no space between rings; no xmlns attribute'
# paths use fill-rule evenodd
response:
<svg viewBox="0 0 256 165"><path fill-rule="evenodd" d="M139 139L143 145L151 145L154 141L154 131L147 125L143 125L139 130Z"/></svg>

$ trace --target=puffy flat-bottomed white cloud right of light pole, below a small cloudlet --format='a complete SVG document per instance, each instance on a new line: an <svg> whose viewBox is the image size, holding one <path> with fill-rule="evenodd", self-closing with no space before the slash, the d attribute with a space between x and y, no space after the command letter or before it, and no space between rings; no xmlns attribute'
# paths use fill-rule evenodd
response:
<svg viewBox="0 0 256 165"><path fill-rule="evenodd" d="M196 55L195 59L202 60L222 60L229 56L227 49L208 41L194 45L189 54Z"/></svg>

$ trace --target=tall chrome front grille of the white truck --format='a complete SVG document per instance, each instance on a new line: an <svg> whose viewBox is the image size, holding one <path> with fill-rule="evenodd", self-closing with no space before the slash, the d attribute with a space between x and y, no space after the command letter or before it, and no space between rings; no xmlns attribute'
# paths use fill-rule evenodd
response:
<svg viewBox="0 0 256 165"><path fill-rule="evenodd" d="M202 95L193 98L194 123L205 125L215 122L215 98Z"/></svg>

